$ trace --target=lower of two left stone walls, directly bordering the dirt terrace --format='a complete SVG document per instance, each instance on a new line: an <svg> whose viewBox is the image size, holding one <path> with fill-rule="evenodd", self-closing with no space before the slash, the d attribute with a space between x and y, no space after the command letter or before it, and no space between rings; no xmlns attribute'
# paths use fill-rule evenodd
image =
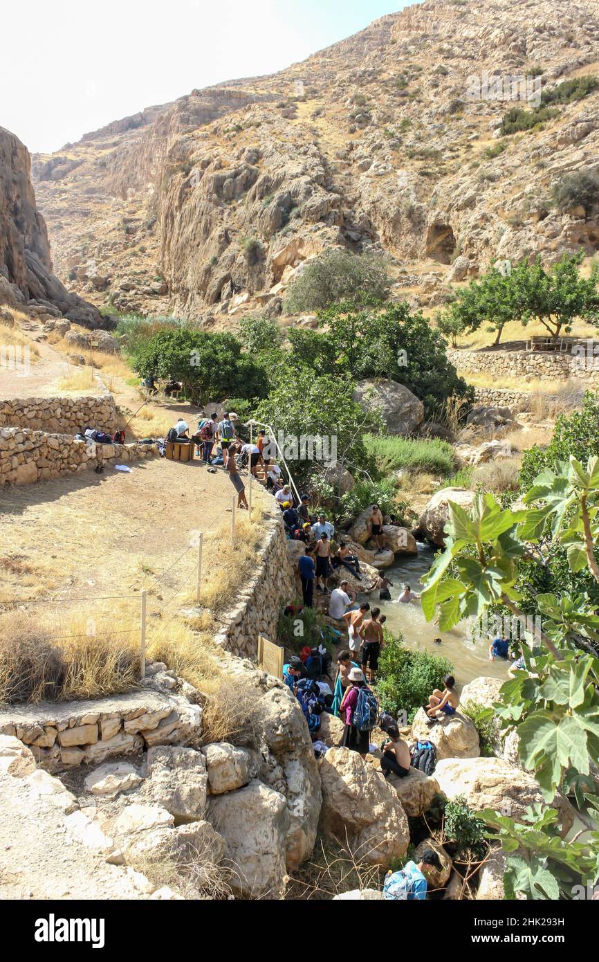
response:
<svg viewBox="0 0 599 962"><path fill-rule="evenodd" d="M157 454L156 444L86 443L70 435L0 427L0 487L35 484L95 468L99 462L113 465Z"/></svg>

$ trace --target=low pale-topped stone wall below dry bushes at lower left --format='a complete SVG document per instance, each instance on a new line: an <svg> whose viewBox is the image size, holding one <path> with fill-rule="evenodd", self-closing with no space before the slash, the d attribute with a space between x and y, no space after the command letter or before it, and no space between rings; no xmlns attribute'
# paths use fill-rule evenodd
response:
<svg viewBox="0 0 599 962"><path fill-rule="evenodd" d="M0 734L31 748L44 769L98 765L143 747L181 745L200 734L202 710L185 696L140 691L63 704L9 705Z"/></svg>

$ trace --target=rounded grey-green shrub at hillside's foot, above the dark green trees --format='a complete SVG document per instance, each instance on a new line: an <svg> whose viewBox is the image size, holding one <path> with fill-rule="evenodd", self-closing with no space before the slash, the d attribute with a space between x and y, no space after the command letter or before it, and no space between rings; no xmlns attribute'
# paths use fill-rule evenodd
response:
<svg viewBox="0 0 599 962"><path fill-rule="evenodd" d="M317 311L339 300L383 300L389 290L387 261L378 254L330 248L306 265L286 298L288 314Z"/></svg>

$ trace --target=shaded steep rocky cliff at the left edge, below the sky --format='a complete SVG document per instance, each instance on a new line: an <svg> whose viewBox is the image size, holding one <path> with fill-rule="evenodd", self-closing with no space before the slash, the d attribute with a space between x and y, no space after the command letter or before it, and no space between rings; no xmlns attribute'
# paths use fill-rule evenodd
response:
<svg viewBox="0 0 599 962"><path fill-rule="evenodd" d="M0 303L29 305L33 314L65 315L86 327L99 312L69 293L52 272L43 217L36 207L29 151L0 127Z"/></svg>

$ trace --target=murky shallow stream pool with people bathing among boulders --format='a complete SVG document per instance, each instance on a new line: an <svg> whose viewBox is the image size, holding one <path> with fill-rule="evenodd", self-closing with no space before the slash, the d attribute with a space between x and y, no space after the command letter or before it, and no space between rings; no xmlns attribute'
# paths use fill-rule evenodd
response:
<svg viewBox="0 0 599 962"><path fill-rule="evenodd" d="M386 627L391 632L401 632L407 646L424 648L436 655L448 658L455 669L458 688L481 675L506 680L508 677L508 662L489 662L488 646L492 639L472 641L472 624L462 621L452 631L439 631L434 621L426 621L422 614L419 601L408 604L397 601L403 586L409 584L412 592L417 595L422 591L420 578L426 574L435 560L435 551L425 544L418 544L418 555L402 558L391 568L387 568L387 576L393 582L389 592L391 601L379 601L378 593L369 595L371 607L378 605L381 612L387 615ZM441 638L442 644L436 645L433 639Z"/></svg>

